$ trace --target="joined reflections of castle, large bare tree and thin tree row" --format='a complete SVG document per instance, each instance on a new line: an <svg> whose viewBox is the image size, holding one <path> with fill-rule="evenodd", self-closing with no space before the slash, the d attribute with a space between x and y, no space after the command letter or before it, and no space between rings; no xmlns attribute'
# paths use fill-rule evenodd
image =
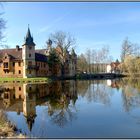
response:
<svg viewBox="0 0 140 140"><path fill-rule="evenodd" d="M45 105L51 122L64 127L76 119L75 103L78 96L88 102L110 105L113 95L106 81L55 81L51 84L3 84L0 87L0 107L6 111L23 113L29 130L37 117L36 106ZM78 93L78 94L77 94Z"/></svg>

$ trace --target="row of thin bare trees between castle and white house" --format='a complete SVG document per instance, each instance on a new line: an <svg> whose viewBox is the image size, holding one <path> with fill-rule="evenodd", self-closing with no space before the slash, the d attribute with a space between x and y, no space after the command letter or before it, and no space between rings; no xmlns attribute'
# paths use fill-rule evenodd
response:
<svg viewBox="0 0 140 140"><path fill-rule="evenodd" d="M78 72L101 73L106 72L107 64L113 61L109 47L103 46L101 49L87 49L85 53L78 56Z"/></svg>

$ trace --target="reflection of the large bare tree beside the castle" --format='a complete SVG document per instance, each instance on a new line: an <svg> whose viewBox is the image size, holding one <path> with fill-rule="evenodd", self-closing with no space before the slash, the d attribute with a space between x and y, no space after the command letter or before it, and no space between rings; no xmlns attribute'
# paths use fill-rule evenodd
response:
<svg viewBox="0 0 140 140"><path fill-rule="evenodd" d="M74 81L75 82L75 81ZM77 100L76 82L61 82L62 90L55 99L50 99L48 103L48 114L51 121L60 127L76 119L75 102ZM55 94L55 93L53 93Z"/></svg>

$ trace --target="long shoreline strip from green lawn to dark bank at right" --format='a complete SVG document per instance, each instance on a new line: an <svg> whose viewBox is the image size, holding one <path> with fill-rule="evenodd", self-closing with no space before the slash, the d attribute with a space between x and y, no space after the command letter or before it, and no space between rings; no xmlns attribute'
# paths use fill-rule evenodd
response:
<svg viewBox="0 0 140 140"><path fill-rule="evenodd" d="M97 74L77 74L76 76L61 77L35 77L35 78L0 78L0 83L49 83L55 80L107 80L128 77L125 74L97 73Z"/></svg>

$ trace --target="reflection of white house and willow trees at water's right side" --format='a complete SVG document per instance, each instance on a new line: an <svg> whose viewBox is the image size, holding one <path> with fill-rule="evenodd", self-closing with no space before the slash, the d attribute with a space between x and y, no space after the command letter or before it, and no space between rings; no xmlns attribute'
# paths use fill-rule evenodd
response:
<svg viewBox="0 0 140 140"><path fill-rule="evenodd" d="M130 112L133 108L140 107L140 80L139 79L115 79L107 80L107 85L121 89L123 108Z"/></svg>

